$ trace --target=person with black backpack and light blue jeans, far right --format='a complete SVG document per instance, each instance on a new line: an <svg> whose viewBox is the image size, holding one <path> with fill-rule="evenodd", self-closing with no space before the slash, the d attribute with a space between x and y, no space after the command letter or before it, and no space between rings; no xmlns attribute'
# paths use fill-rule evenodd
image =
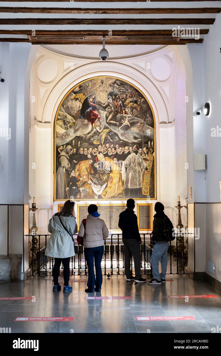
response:
<svg viewBox="0 0 221 356"><path fill-rule="evenodd" d="M155 204L153 221L153 232L151 243L154 245L151 255L151 267L153 279L148 282L154 286L166 283L166 269L167 269L167 250L168 242L173 240L173 225L164 213L164 205L159 201ZM159 263L161 264L161 273L159 272Z"/></svg>

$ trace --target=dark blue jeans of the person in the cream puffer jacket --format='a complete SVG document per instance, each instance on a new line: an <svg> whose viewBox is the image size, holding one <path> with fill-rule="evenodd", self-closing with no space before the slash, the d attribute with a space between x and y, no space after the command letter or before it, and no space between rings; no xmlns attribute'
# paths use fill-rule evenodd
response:
<svg viewBox="0 0 221 356"><path fill-rule="evenodd" d="M88 265L88 283L89 289L101 288L103 281L101 261L104 253L104 246L86 247L84 248L84 255ZM94 266L96 270L96 279L94 275Z"/></svg>

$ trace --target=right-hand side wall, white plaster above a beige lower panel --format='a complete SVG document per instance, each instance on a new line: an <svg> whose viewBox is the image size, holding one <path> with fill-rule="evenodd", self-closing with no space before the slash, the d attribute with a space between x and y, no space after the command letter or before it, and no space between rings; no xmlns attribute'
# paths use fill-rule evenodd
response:
<svg viewBox="0 0 221 356"><path fill-rule="evenodd" d="M193 117L194 122L194 152L207 155L207 169L194 172L195 194L194 199L205 202L205 215L198 215L198 227L200 231L206 231L205 269L212 277L221 281L220 273L208 272L208 261L215 263L220 269L220 221L221 204L221 137L212 137L212 127L220 127L221 109L221 73L220 73L220 38L217 33L221 31L221 15L217 15L214 26L210 26L208 36L205 37L202 46L189 44L189 52L193 66L193 112L205 102L209 102L211 111L209 116L202 113L199 117ZM217 203L217 204L213 204ZM196 204L198 206L199 204ZM203 212L203 208L202 208ZM200 232L201 235L201 232ZM201 239L201 238L200 238ZM200 242L200 240L199 240ZM201 249L196 250L196 259L200 258ZM203 257L203 258L204 258Z"/></svg>

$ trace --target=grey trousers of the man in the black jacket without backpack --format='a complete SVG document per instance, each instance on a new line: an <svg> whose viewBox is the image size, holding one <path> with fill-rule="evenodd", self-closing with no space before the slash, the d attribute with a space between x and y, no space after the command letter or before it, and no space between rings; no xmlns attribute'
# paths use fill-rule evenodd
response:
<svg viewBox="0 0 221 356"><path fill-rule="evenodd" d="M124 244L124 267L126 278L132 277L131 271L131 257L134 260L134 270L135 278L140 279L140 266L141 266L141 256L140 256L140 245L136 239L122 239Z"/></svg>

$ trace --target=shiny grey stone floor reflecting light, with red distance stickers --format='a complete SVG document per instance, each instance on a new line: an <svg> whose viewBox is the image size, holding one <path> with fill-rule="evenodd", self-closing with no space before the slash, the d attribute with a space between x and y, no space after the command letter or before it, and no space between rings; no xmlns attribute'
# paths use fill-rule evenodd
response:
<svg viewBox="0 0 221 356"><path fill-rule="evenodd" d="M211 328L221 328L221 293L205 281L168 274L167 279L173 281L150 286L126 282L125 276L112 276L110 279L104 277L101 293L87 294L84 292L85 279L85 276L72 276L73 291L70 293L62 290L53 293L53 279L49 276L0 283L0 327L11 328L11 333L211 333ZM187 300L168 295L215 295L216 298ZM32 296L33 299L26 300L1 300L2 297ZM108 299L85 299L88 296ZM131 299L112 298L123 296ZM150 316L191 316L194 319L137 320ZM74 319L14 321L17 317Z"/></svg>

